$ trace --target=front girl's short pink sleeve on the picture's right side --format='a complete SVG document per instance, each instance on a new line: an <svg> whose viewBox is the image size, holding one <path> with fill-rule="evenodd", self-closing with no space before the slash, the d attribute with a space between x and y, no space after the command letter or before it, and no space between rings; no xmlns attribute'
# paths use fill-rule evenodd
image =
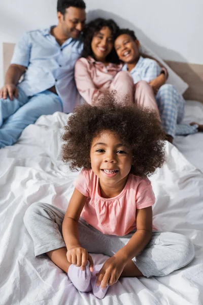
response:
<svg viewBox="0 0 203 305"><path fill-rule="evenodd" d="M143 179L137 189L136 208L145 208L155 203L155 196L151 182L148 178Z"/></svg>

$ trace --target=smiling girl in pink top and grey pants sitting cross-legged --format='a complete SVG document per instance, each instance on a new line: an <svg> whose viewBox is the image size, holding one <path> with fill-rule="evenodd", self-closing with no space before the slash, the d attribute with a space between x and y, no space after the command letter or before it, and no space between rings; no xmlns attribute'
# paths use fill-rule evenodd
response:
<svg viewBox="0 0 203 305"><path fill-rule="evenodd" d="M103 298L120 277L165 276L193 259L187 237L153 228L147 175L164 162L163 139L155 112L112 95L70 116L63 160L82 171L69 206L32 204L24 223L35 255L46 253L78 290ZM110 258L93 265L89 253Z"/></svg>

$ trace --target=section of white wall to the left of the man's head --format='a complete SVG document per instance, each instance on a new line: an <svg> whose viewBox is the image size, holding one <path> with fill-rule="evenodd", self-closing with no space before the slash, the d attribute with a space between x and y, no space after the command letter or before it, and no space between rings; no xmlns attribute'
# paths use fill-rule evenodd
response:
<svg viewBox="0 0 203 305"><path fill-rule="evenodd" d="M2 43L16 43L25 31L56 22L56 0L0 0L0 87L4 79Z"/></svg>

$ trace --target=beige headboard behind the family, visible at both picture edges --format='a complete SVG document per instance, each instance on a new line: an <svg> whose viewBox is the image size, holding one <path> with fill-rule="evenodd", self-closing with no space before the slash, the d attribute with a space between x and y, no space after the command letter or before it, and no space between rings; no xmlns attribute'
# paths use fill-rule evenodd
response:
<svg viewBox="0 0 203 305"><path fill-rule="evenodd" d="M15 44L3 43L4 75L9 67ZM180 77L189 84L184 93L186 100L196 100L203 103L203 65L166 61Z"/></svg>

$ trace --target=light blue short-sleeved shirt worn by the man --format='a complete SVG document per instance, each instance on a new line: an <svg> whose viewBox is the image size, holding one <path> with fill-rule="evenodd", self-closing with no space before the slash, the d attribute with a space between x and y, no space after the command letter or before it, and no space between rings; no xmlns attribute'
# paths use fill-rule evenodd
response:
<svg viewBox="0 0 203 305"><path fill-rule="evenodd" d="M60 46L50 28L25 33L11 59L11 64L27 67L19 86L33 96L55 85L63 111L72 112L79 100L74 67L82 49L82 41L73 38Z"/></svg>

